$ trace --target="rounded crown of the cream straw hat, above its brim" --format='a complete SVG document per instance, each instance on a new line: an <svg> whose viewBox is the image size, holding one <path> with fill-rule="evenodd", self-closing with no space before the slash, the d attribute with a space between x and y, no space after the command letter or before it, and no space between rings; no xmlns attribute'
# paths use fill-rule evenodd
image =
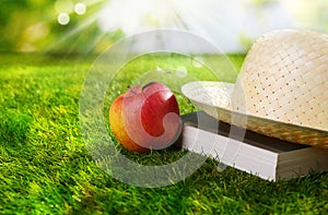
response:
<svg viewBox="0 0 328 215"><path fill-rule="evenodd" d="M284 29L260 37L238 82L247 114L328 130L328 36Z"/></svg>

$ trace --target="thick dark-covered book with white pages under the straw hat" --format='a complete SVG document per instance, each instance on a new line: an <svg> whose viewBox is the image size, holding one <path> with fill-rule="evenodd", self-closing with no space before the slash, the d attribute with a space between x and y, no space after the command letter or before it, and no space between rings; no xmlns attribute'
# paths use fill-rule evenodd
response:
<svg viewBox="0 0 328 215"><path fill-rule="evenodd" d="M181 147L262 179L277 181L328 170L328 150L245 131L203 111L184 115L181 120ZM245 135L232 134L238 129Z"/></svg>

